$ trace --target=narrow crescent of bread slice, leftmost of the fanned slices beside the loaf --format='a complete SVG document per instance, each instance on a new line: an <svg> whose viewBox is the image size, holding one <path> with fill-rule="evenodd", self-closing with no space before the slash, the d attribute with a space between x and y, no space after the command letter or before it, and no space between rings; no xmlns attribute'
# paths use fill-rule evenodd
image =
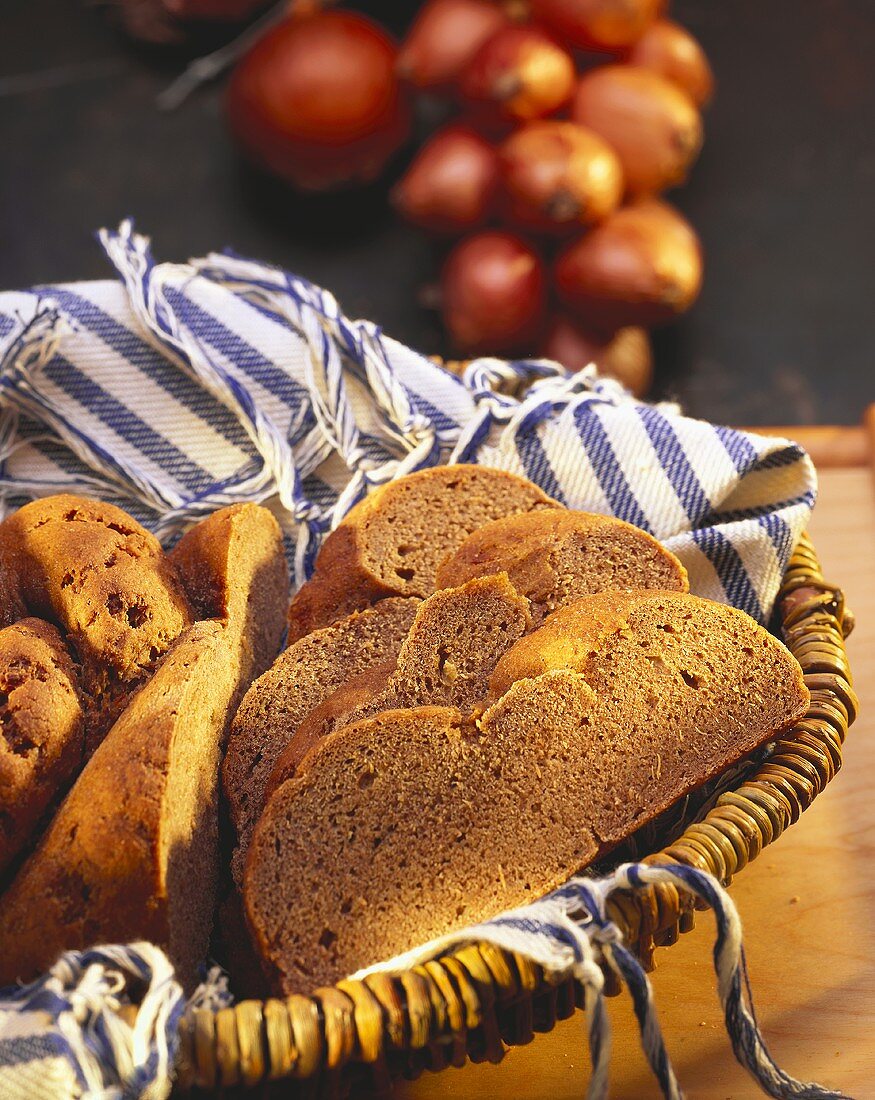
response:
<svg viewBox="0 0 875 1100"><path fill-rule="evenodd" d="M247 692L222 765L225 794L238 835L231 860L238 882L250 834L264 805L265 784L295 729L350 676L396 657L418 605L418 600L384 600L302 638Z"/></svg>

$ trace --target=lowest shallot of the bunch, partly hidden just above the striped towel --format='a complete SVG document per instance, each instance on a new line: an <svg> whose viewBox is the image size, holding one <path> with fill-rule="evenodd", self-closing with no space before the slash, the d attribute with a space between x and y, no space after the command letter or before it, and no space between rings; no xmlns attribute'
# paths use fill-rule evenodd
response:
<svg viewBox="0 0 875 1100"><path fill-rule="evenodd" d="M643 397L653 381L650 340L644 329L635 327L605 337L557 314L550 321L540 353L569 371L582 371L594 363L600 374L622 382L636 397Z"/></svg>

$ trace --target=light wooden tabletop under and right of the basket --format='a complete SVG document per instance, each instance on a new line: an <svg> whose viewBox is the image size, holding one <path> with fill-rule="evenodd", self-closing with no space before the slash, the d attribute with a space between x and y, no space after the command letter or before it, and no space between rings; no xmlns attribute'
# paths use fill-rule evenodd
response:
<svg viewBox="0 0 875 1100"><path fill-rule="evenodd" d="M857 627L849 653L861 717L844 769L799 823L732 887L745 927L757 1015L775 1058L802 1080L855 1100L875 1097L875 483L865 466L822 470L811 534ZM675 1069L689 1100L755 1100L723 1030L710 952L713 920L657 952L652 976ZM641 1055L626 994L612 999L612 1100L658 1090ZM401 1085L397 1098L565 1100L588 1080L583 1014L513 1049L499 1066L468 1066Z"/></svg>

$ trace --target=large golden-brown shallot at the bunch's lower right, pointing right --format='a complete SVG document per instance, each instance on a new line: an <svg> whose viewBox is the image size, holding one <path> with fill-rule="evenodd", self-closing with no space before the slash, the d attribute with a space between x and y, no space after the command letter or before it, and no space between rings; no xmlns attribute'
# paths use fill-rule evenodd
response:
<svg viewBox="0 0 875 1100"><path fill-rule="evenodd" d="M617 210L556 261L556 288L583 326L652 328L686 312L701 289L702 256L690 224L648 199Z"/></svg>

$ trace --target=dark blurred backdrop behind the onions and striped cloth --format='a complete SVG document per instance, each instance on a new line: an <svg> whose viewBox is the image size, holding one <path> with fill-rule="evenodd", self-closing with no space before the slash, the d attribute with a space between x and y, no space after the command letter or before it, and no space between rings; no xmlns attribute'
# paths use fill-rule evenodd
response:
<svg viewBox="0 0 875 1100"><path fill-rule="evenodd" d="M352 7L395 30L409 18ZM239 162L221 82L155 108L178 52L132 46L79 0L0 12L0 287L107 277L92 231L133 215L158 258L231 245L448 350L416 300L431 246L384 187L302 202ZM718 95L671 196L702 237L704 290L656 337L656 392L735 424L855 422L875 399L875 2L675 0L672 14L703 43Z"/></svg>

